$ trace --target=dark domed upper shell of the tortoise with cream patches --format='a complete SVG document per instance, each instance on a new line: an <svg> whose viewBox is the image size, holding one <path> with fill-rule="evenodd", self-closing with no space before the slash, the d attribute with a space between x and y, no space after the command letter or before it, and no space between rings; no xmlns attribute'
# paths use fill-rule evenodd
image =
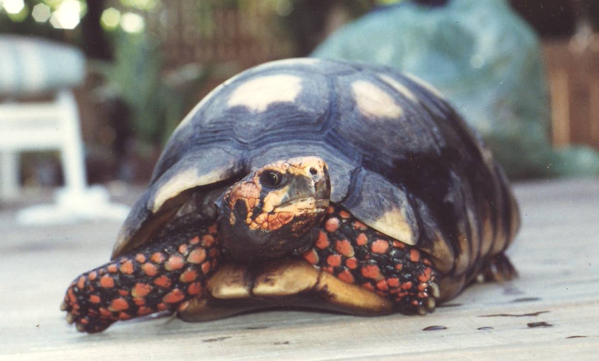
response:
<svg viewBox="0 0 599 361"><path fill-rule="evenodd" d="M332 202L430 254L458 284L518 229L500 166L431 86L385 66L289 59L231 78L180 123L113 259L190 204L210 213L213 190L296 156L325 160Z"/></svg>

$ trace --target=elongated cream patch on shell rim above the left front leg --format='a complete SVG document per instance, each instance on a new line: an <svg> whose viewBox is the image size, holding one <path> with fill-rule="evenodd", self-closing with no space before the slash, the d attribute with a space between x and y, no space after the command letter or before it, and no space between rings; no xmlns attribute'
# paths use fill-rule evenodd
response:
<svg viewBox="0 0 599 361"><path fill-rule="evenodd" d="M160 210L164 202L168 201L168 199L171 199L174 196L179 195L179 193L183 192L184 190L197 186L203 186L205 184L211 184L222 179L222 169L214 169L211 172L201 175L198 174L198 171L195 168L179 172L179 174L162 184L162 186L156 191L153 200L150 199L152 204L148 204L148 208L151 209L153 213L156 213L158 210Z"/></svg>

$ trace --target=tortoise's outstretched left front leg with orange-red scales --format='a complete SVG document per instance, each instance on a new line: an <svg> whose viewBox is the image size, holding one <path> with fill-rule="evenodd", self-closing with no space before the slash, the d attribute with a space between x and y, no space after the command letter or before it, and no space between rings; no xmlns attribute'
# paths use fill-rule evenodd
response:
<svg viewBox="0 0 599 361"><path fill-rule="evenodd" d="M219 259L216 226L195 226L125 254L72 281L60 306L81 332L119 320L184 310Z"/></svg>

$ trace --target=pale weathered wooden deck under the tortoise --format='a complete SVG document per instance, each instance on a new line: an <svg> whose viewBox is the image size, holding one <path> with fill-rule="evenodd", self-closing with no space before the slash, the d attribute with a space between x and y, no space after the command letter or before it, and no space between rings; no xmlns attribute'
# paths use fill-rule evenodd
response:
<svg viewBox="0 0 599 361"><path fill-rule="evenodd" d="M208 323L133 320L78 333L59 311L105 263L119 225L24 228L0 213L0 359L597 359L599 181L519 184L524 226L506 284L477 284L428 316L270 311ZM436 327L431 327L436 326Z"/></svg>

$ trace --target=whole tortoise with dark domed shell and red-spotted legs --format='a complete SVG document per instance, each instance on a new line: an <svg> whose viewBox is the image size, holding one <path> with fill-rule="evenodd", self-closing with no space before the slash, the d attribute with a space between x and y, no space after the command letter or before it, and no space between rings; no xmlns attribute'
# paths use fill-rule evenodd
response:
<svg viewBox="0 0 599 361"><path fill-rule="evenodd" d="M68 287L82 332L158 311L426 314L509 280L519 227L483 140L419 78L286 59L209 93L165 146L111 261Z"/></svg>

